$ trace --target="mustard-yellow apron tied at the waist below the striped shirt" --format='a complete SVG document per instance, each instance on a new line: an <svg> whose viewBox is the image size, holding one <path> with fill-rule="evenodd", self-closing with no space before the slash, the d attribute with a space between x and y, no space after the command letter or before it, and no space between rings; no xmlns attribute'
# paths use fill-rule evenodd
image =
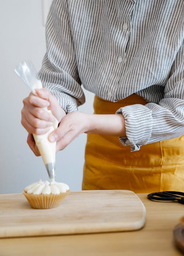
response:
<svg viewBox="0 0 184 256"><path fill-rule="evenodd" d="M147 102L133 94L118 102L95 96L95 114ZM88 134L82 190L131 190L135 193L184 191L184 136L141 146L130 152L118 137Z"/></svg>

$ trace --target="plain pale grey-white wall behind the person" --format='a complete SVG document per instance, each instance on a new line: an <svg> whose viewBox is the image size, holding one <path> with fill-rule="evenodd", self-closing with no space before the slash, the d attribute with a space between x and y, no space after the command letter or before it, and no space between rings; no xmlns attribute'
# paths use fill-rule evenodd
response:
<svg viewBox="0 0 184 256"><path fill-rule="evenodd" d="M30 59L37 70L45 54L41 0L0 0L0 194L20 193L32 182L48 180L40 157L29 149L21 126L22 99L29 90L14 74L15 66ZM92 113L93 94L79 111ZM81 190L86 134L56 155L57 181Z"/></svg>

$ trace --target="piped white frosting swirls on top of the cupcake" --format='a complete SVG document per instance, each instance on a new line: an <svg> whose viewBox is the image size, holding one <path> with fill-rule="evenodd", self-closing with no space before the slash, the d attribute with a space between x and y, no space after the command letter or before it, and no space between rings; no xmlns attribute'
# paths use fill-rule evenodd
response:
<svg viewBox="0 0 184 256"><path fill-rule="evenodd" d="M49 182L49 181L38 181L24 188L24 191L28 194L60 194L66 193L70 188L67 184L62 182Z"/></svg>

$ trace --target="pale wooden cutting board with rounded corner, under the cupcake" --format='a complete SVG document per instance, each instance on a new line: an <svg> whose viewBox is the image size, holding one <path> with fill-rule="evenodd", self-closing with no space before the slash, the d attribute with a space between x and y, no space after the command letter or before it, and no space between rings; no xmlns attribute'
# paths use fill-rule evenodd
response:
<svg viewBox="0 0 184 256"><path fill-rule="evenodd" d="M70 192L53 209L33 209L22 194L0 195L0 238L131 231L145 219L145 206L128 190Z"/></svg>

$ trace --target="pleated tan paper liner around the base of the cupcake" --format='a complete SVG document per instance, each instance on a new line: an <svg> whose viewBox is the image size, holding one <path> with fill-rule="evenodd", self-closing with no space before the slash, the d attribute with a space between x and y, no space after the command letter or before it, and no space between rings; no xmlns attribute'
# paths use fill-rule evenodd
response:
<svg viewBox="0 0 184 256"><path fill-rule="evenodd" d="M55 208L61 204L63 199L69 194L70 190L60 194L28 194L23 191L23 194L27 198L29 204L35 209L49 209Z"/></svg>

